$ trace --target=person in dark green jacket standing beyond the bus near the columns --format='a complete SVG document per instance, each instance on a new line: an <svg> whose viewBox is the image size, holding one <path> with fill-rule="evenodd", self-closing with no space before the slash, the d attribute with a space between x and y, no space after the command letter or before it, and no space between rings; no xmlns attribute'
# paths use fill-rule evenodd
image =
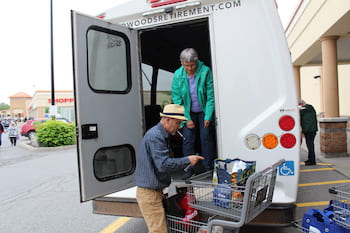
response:
<svg viewBox="0 0 350 233"><path fill-rule="evenodd" d="M304 100L299 100L299 106L301 132L305 137L308 150L308 159L305 161L305 165L316 165L314 144L315 136L318 130L316 111L311 104L306 104Z"/></svg>

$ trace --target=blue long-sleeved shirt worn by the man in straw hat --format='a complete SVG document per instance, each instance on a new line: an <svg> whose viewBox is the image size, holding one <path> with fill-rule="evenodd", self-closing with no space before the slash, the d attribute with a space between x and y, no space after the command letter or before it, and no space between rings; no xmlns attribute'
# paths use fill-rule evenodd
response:
<svg viewBox="0 0 350 233"><path fill-rule="evenodd" d="M171 183L170 172L183 170L190 164L187 157L170 158L169 134L158 123L145 134L136 164L136 185L142 188L163 189Z"/></svg>

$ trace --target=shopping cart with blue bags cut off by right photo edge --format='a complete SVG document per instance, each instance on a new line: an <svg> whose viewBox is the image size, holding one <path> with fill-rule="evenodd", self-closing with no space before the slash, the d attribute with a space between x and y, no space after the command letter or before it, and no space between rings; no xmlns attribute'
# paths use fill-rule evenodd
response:
<svg viewBox="0 0 350 233"><path fill-rule="evenodd" d="M350 185L341 185L329 189L333 194L331 206L333 207L333 220L340 226L350 229Z"/></svg>

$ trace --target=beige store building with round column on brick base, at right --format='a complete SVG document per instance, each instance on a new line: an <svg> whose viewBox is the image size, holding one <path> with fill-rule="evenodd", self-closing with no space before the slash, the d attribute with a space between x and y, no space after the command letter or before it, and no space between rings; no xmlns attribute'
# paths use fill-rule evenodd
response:
<svg viewBox="0 0 350 233"><path fill-rule="evenodd" d="M298 97L319 113L320 149L347 153L350 1L300 0L286 36Z"/></svg>

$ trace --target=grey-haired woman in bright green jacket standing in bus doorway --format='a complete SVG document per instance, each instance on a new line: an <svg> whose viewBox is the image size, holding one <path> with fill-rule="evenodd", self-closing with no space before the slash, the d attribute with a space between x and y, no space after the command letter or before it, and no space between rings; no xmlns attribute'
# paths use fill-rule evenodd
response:
<svg viewBox="0 0 350 233"><path fill-rule="evenodd" d="M214 89L213 75L209 67L198 60L196 50L184 49L180 54L181 67L174 73L172 100L185 108L184 156L196 153L196 136L199 132L202 165L206 170L213 166Z"/></svg>

